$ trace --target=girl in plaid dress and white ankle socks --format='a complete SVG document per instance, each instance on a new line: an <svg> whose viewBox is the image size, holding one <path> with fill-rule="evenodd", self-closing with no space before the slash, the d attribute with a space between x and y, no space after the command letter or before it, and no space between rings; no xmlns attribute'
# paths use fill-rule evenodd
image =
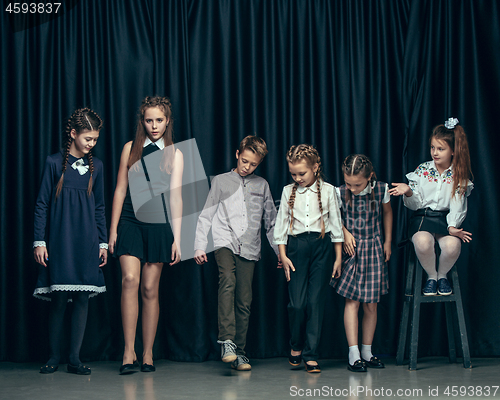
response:
<svg viewBox="0 0 500 400"><path fill-rule="evenodd" d="M349 344L347 368L366 372L384 368L371 347L377 326L377 303L389 288L387 261L391 257L392 208L388 185L377 182L373 165L363 154L348 156L342 164L345 185L339 188L344 221L342 274L332 280L345 297L344 327ZM382 221L384 240L382 240ZM363 303L363 343L358 347L358 311Z"/></svg>

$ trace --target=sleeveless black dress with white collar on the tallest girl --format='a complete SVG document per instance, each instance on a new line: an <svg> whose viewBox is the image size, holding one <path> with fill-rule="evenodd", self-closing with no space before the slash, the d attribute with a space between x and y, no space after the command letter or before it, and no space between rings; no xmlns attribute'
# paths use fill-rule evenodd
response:
<svg viewBox="0 0 500 400"><path fill-rule="evenodd" d="M160 149L154 143L144 147L141 161L144 160L144 157L147 157L153 152L159 150ZM155 159L161 159L161 154L158 156L155 155ZM131 169L134 168L134 165L132 165ZM145 166L146 164L143 163L142 165ZM158 174L154 174L153 171L149 172L149 175L151 176L158 176ZM143 179L149 179L149 175L146 168L146 173L144 173ZM161 176L165 180L162 182L163 190L165 193L168 193L168 189L170 187L170 175L165 173ZM153 182L152 184L155 185L155 183L157 184L157 182ZM160 203L162 202L162 204L160 204L160 214L162 214L163 221L168 221L167 213L170 209L170 205L169 196L168 194L165 195L165 193L158 196L156 201L159 201ZM170 224L168 222L148 223L139 221L134 212L132 198L130 195L130 185L127 188L127 195L123 201L117 234L116 250L114 252L115 257L130 255L139 258L143 263L171 262L171 247L174 241L174 236L172 229L170 228Z"/></svg>

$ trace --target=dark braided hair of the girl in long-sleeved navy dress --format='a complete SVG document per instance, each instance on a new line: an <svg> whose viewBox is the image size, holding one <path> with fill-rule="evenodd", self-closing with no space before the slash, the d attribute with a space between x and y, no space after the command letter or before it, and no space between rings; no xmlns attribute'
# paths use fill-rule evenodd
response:
<svg viewBox="0 0 500 400"><path fill-rule="evenodd" d="M65 144L64 144L64 157L62 162L62 174L61 178L59 178L59 182L57 183L56 189L56 199L61 193L62 185L64 182L64 174L66 172L66 167L68 165L68 156L69 151L71 149L71 144L73 143L73 138L71 137L71 131L74 129L77 135L83 133L83 131L100 131L102 128L102 119L97 115L97 113L90 108L79 108L75 110L75 112L69 117L68 122L66 124L65 131ZM89 151L88 155L89 160L89 185L87 188L87 193L90 196L92 193L92 175L94 173L94 160L92 158L92 150Z"/></svg>

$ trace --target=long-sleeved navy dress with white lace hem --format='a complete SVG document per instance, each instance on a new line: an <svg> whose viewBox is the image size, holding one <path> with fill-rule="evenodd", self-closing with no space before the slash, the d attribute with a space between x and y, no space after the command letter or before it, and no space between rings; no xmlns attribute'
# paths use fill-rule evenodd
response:
<svg viewBox="0 0 500 400"><path fill-rule="evenodd" d="M104 214L103 165L93 157L93 185L90 196L90 172L83 175L71 165L78 159L68 155L62 190L55 199L62 174L63 153L47 157L42 183L35 205L35 243L45 242L47 267L38 266L38 281L33 296L50 300L54 291L84 291L89 296L106 291L99 264L100 245L107 248ZM80 159L88 165L88 158ZM84 171L84 170L82 170Z"/></svg>

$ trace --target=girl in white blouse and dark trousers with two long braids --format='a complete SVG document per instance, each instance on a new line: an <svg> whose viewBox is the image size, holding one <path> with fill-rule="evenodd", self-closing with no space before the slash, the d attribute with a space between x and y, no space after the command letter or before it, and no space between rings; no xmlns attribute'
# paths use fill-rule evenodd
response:
<svg viewBox="0 0 500 400"><path fill-rule="evenodd" d="M283 188L274 243L279 245L290 297L288 361L296 367L303 359L307 372L318 373L317 347L328 281L340 274L341 267L340 207L335 187L321 178L321 158L314 147L292 146L286 159L295 183Z"/></svg>

